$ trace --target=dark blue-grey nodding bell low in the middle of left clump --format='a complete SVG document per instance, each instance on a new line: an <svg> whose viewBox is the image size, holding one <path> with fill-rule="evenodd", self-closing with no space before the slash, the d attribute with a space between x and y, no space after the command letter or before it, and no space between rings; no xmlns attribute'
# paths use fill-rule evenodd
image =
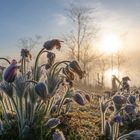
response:
<svg viewBox="0 0 140 140"><path fill-rule="evenodd" d="M37 93L37 95L42 99L42 100L46 100L48 97L48 91L47 91L47 87L45 85L45 83L38 83L35 85L35 91Z"/></svg>

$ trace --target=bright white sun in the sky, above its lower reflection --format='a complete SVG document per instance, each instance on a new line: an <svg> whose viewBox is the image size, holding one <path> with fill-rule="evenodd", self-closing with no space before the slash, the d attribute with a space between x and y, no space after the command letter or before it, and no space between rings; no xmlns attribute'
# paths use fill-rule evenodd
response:
<svg viewBox="0 0 140 140"><path fill-rule="evenodd" d="M100 43L100 51L104 53L117 53L122 48L122 41L115 34L103 35Z"/></svg>

